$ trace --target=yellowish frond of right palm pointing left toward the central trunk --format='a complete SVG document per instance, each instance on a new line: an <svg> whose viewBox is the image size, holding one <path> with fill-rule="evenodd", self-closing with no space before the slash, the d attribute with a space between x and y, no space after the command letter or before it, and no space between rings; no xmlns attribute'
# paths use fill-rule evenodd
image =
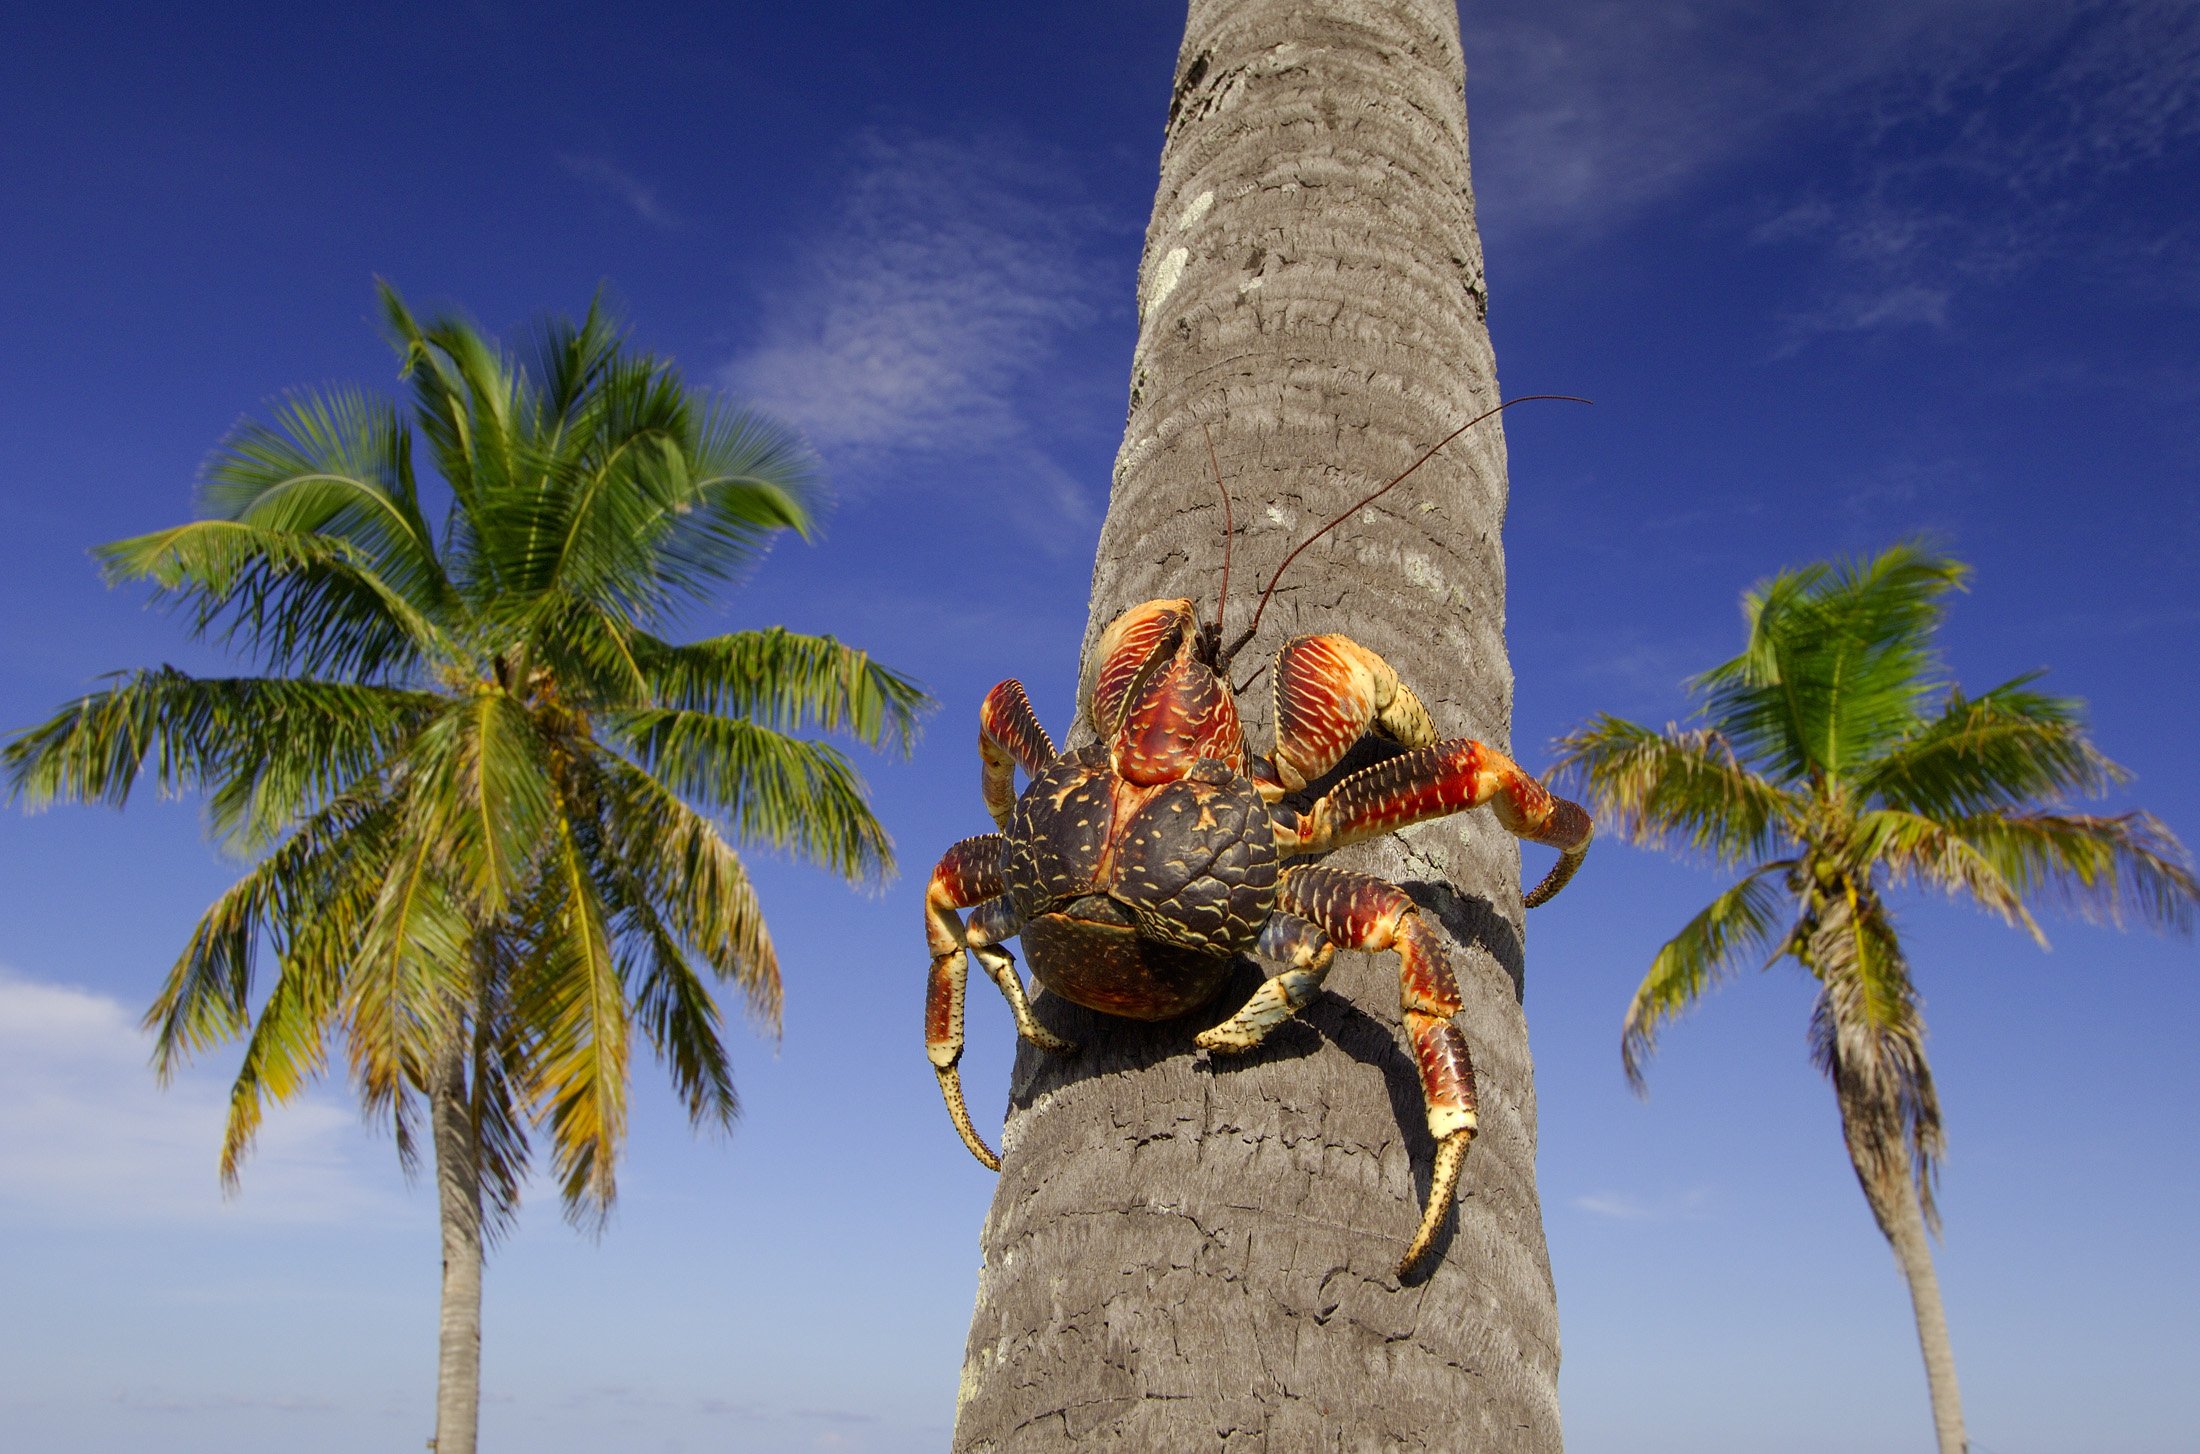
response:
<svg viewBox="0 0 2200 1454"><path fill-rule="evenodd" d="M1555 776L1580 781L1599 825L1630 842L1749 862L1793 842L1800 801L1712 730L1654 732L1599 715L1558 739Z"/></svg>

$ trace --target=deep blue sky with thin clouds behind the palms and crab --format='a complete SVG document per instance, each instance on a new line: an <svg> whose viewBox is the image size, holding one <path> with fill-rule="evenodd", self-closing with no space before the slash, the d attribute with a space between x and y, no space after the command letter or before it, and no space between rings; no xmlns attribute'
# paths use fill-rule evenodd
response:
<svg viewBox="0 0 2200 1454"><path fill-rule="evenodd" d="M968 722L1071 711L1181 11L44 7L0 44L0 726L213 669L86 548L172 524L284 387L392 385L372 277L493 328L598 284L638 341L796 420L838 510L693 625L836 631L944 711L873 761L904 878L763 860L785 1036L697 1142L651 1073L601 1241L535 1201L488 1276L491 1447L946 1443L990 1177L920 1027L920 884L986 825ZM1934 532L1956 673L2050 667L2127 798L2200 838L2200 7L1470 7L1507 392L1514 739L1665 722L1753 579ZM1410 662L1401 667L1412 671ZM134 1021L235 875L189 803L0 816L0 1443L411 1447L436 1234L341 1087L222 1201L231 1060ZM1921 1447L1907 1302L1775 970L1619 1012L1718 880L1599 847L1538 911L1542 1194L1582 1454ZM2193 946L2055 948L1903 904L1949 1117L1940 1274L1973 1447L2200 1430ZM1010 1025L972 996L997 1124Z"/></svg>

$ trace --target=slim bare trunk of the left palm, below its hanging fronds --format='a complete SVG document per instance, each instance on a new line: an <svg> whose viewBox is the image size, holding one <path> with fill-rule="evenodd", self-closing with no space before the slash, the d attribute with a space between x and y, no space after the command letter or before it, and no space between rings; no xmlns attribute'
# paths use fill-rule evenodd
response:
<svg viewBox="0 0 2200 1454"><path fill-rule="evenodd" d="M453 1045L431 1076L429 1128L442 1214L436 1454L473 1454L482 1423L482 1161L464 1045Z"/></svg>

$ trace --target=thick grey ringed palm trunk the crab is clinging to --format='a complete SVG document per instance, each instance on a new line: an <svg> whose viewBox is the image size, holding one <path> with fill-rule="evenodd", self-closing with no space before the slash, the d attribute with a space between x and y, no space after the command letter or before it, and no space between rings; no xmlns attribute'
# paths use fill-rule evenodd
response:
<svg viewBox="0 0 2200 1454"><path fill-rule="evenodd" d="M1498 400L1463 86L1450 0L1192 0L1087 651L1137 601L1212 612L1201 425L1239 524L1228 640L1298 541ZM1492 420L1302 554L1234 675L1294 634L1346 631L1439 732L1507 746L1503 515ZM1261 750L1267 697L1241 697ZM1393 955L1340 955L1245 1060L1192 1034L1252 966L1162 1025L1043 994L1085 1049L1016 1058L955 1450L1560 1447L1520 856L1467 814L1333 862L1412 893L1467 1001L1481 1135L1432 1269L1393 1274L1432 1155Z"/></svg>

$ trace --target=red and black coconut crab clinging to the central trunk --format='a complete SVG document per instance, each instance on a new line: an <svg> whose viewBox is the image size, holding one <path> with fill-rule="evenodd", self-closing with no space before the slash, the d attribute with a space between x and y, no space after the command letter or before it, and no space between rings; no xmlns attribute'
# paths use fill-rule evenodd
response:
<svg viewBox="0 0 2200 1454"><path fill-rule="evenodd" d="M1487 414L1384 491L1481 418ZM1223 530L1228 541L1228 517ZM1261 596L1263 609L1283 568ZM1228 572L1225 543L1223 601ZM1340 946L1395 950L1404 1029L1437 1142L1428 1205L1397 1267L1406 1276L1450 1212L1474 1137L1474 1065L1452 1023L1459 985L1443 941L1404 889L1296 860L1487 805L1514 836L1560 851L1525 895L1536 906L1573 878L1593 823L1496 748L1470 737L1439 741L1412 689L1349 636L1285 642L1272 667L1276 746L1267 757L1250 752L1228 667L1258 629L1258 612L1230 647L1221 645L1221 612L1219 603L1214 625L1203 625L1190 601L1146 601L1118 616L1096 649L1085 702L1091 741L1082 748L1054 748L1021 682L986 695L981 792L999 831L950 847L926 886L926 1051L955 1131L970 1155L999 1170L970 1124L957 1073L972 957L1008 999L1016 1034L1069 1054L1076 1047L1032 1016L1005 939L1021 935L1032 972L1054 994L1140 1021L1197 1010L1221 990L1236 955L1258 955L1285 968L1195 1040L1212 1054L1243 1054L1313 1001ZM1307 809L1285 805L1371 732L1404 752L1344 776ZM1019 768L1030 779L1021 794ZM968 922L961 911L970 911Z"/></svg>

